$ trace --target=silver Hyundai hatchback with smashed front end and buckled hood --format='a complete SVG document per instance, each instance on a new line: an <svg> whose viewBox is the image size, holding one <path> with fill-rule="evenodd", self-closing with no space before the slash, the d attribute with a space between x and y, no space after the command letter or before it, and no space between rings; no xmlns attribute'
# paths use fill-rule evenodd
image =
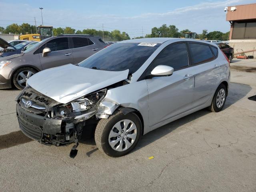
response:
<svg viewBox="0 0 256 192"><path fill-rule="evenodd" d="M78 66L33 75L16 98L18 122L24 134L42 144L74 142L73 158L79 138L95 130L98 148L118 157L160 126L206 107L222 110L229 82L229 62L214 44L127 40Z"/></svg>

